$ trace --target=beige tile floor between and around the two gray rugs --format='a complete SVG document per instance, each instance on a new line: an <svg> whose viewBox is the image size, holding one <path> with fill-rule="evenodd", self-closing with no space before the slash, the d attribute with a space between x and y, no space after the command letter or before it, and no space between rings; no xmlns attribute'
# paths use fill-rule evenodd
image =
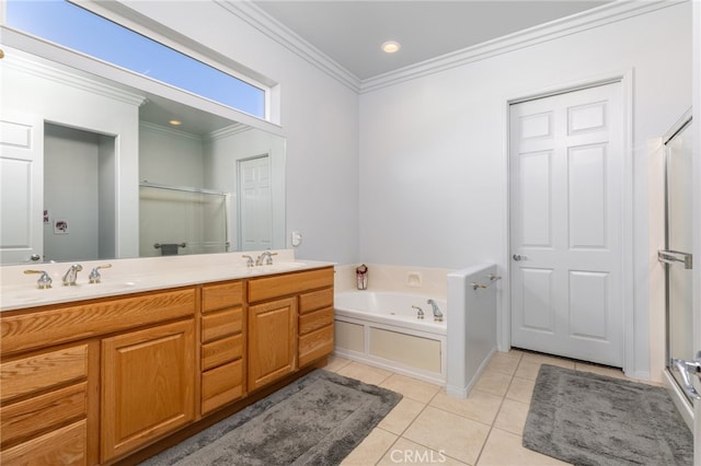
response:
<svg viewBox="0 0 701 466"><path fill-rule="evenodd" d="M457 399L438 385L332 357L326 370L404 395L343 465L565 465L521 446L542 363L624 377L613 369L513 350L494 354L469 397Z"/></svg>

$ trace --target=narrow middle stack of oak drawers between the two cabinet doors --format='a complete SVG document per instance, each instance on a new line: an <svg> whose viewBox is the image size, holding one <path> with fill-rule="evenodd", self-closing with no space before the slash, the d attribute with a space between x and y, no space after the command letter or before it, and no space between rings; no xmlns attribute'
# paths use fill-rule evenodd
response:
<svg viewBox="0 0 701 466"><path fill-rule="evenodd" d="M245 395L243 282L202 290L200 412L207 415Z"/></svg>

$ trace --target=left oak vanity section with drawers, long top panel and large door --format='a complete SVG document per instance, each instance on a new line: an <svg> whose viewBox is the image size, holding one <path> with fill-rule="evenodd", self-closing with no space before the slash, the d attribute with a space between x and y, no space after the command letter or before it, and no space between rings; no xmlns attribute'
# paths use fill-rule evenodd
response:
<svg viewBox="0 0 701 466"><path fill-rule="evenodd" d="M191 422L194 288L0 314L0 463L93 465Z"/></svg>

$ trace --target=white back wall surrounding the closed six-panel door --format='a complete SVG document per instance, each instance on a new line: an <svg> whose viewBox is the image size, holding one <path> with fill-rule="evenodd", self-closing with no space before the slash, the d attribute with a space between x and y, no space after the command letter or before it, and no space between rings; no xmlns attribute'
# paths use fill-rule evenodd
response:
<svg viewBox="0 0 701 466"><path fill-rule="evenodd" d="M508 267L506 102L632 71L634 368L648 354L647 141L691 104L690 3L360 96L360 258ZM502 310L504 312L504 310ZM657 312L657 311L656 311Z"/></svg>

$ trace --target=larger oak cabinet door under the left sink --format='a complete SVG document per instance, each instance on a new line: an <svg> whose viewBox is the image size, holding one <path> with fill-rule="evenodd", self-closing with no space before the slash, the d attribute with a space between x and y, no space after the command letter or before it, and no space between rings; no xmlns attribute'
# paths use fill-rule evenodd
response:
<svg viewBox="0 0 701 466"><path fill-rule="evenodd" d="M194 334L188 319L103 340L103 462L194 419Z"/></svg>

